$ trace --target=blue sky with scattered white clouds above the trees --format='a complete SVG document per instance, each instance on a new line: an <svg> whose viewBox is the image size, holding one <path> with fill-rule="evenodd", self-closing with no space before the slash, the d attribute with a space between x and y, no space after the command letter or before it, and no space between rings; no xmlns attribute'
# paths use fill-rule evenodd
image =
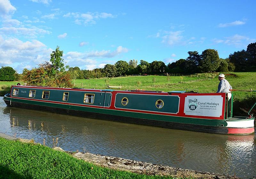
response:
<svg viewBox="0 0 256 179"><path fill-rule="evenodd" d="M70 67L118 60L220 58L256 42L255 0L0 0L0 66L18 73L50 60L59 46Z"/></svg>

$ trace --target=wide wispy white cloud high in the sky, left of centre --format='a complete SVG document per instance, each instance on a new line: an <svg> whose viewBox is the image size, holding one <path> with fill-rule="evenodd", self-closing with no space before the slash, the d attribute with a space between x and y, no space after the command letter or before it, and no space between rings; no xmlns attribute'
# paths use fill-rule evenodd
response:
<svg viewBox="0 0 256 179"><path fill-rule="evenodd" d="M87 13L78 13L78 12L68 12L67 14L63 15L66 18L74 18L74 22L77 25L90 25L95 24L96 20L102 18L114 18L116 17L113 14L106 13L106 12L87 12Z"/></svg>

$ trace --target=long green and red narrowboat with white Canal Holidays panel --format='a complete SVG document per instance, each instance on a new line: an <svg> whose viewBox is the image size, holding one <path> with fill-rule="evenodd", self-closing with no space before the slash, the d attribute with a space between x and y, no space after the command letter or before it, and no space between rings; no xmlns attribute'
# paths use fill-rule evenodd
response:
<svg viewBox="0 0 256 179"><path fill-rule="evenodd" d="M254 117L233 117L233 94L12 86L6 105L109 121L216 134L253 134Z"/></svg>

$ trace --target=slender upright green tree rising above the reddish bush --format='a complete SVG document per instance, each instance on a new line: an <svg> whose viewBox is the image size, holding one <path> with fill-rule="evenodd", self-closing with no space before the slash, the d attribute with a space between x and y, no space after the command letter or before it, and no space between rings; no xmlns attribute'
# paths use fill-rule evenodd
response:
<svg viewBox="0 0 256 179"><path fill-rule="evenodd" d="M69 68L69 66L65 66L63 63L64 59L62 58L63 51L60 51L60 47L57 46L55 51L52 51L51 53L51 59L50 62L52 62L52 74L55 75L55 79L57 79L57 76L62 74L66 69Z"/></svg>

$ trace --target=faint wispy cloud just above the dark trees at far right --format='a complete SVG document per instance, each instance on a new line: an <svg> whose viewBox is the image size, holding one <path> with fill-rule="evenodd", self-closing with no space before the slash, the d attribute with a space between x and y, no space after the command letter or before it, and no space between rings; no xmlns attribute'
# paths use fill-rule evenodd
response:
<svg viewBox="0 0 256 179"><path fill-rule="evenodd" d="M236 47L244 47L248 45L248 43L254 42L256 39L251 39L250 37L243 36L243 35L234 35L230 37L224 37L224 39L213 39L214 43L225 43L228 45L235 45Z"/></svg>

